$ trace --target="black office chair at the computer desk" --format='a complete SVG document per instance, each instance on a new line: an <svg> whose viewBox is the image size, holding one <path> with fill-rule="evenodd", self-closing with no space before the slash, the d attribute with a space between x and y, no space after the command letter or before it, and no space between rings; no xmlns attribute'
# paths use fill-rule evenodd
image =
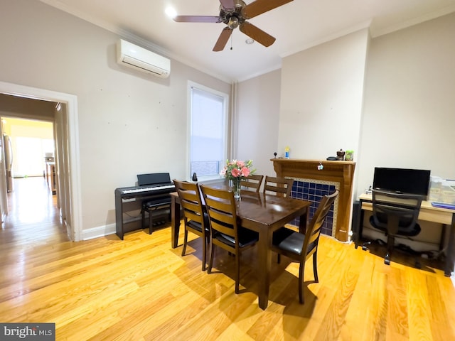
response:
<svg viewBox="0 0 455 341"><path fill-rule="evenodd" d="M373 190L373 215L370 217L370 224L387 235L384 264L390 265L395 237L410 238L420 233L420 226L417 224L420 205L422 195ZM418 261L416 266L420 267Z"/></svg>

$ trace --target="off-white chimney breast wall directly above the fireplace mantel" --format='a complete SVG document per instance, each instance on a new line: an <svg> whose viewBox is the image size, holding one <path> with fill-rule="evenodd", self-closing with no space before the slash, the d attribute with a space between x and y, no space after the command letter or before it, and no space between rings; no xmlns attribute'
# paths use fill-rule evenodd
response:
<svg viewBox="0 0 455 341"><path fill-rule="evenodd" d="M368 40L364 29L283 59L279 156L358 151Z"/></svg>

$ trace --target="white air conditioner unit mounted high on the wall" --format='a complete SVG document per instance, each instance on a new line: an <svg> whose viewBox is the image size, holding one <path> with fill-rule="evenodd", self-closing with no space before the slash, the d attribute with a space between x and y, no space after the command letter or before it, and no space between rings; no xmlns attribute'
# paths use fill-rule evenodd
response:
<svg viewBox="0 0 455 341"><path fill-rule="evenodd" d="M171 72L171 60L123 39L117 42L117 63L161 78Z"/></svg>

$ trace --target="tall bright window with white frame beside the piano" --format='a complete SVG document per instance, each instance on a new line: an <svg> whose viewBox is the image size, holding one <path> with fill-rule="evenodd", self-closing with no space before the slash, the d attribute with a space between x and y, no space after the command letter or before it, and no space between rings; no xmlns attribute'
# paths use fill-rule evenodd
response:
<svg viewBox="0 0 455 341"><path fill-rule="evenodd" d="M198 180L218 178L227 155L228 94L189 83L190 173Z"/></svg>

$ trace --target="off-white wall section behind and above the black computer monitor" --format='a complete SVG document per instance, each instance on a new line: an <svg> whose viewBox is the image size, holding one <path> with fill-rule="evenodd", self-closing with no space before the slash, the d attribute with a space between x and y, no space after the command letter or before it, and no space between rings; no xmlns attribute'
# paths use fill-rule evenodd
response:
<svg viewBox="0 0 455 341"><path fill-rule="evenodd" d="M358 194L375 166L455 178L455 13L371 41Z"/></svg>

